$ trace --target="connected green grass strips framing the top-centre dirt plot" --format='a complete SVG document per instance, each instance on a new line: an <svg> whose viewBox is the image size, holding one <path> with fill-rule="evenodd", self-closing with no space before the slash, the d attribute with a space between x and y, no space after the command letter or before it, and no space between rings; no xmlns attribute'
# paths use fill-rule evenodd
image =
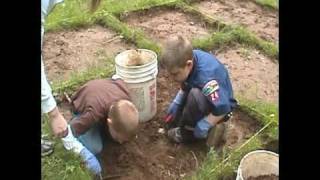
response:
<svg viewBox="0 0 320 180"><path fill-rule="evenodd" d="M139 1L102 1L96 13L88 12L88 2L86 0L70 0L64 4L59 4L49 15L46 23L46 30L61 30L68 28L79 28L100 23L121 33L129 42L133 42L138 48L148 48L159 53L159 46L147 38L145 33L139 29L133 29L119 21L114 14L147 9L157 5L176 6L183 11L200 17L205 22L217 28L217 32L205 39L196 39L193 45L196 48L212 50L212 48L223 48L231 44L239 43L248 45L272 58L278 58L278 47L272 42L262 40L249 32L246 28L240 26L226 25L215 20L197 9L183 3L179 0L139 0Z"/></svg>

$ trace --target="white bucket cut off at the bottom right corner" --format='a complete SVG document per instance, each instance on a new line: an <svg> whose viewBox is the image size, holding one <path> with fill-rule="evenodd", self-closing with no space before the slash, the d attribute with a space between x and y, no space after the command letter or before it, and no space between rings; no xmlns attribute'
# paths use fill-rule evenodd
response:
<svg viewBox="0 0 320 180"><path fill-rule="evenodd" d="M271 151L257 150L242 158L236 180L271 174L279 176L279 155Z"/></svg>

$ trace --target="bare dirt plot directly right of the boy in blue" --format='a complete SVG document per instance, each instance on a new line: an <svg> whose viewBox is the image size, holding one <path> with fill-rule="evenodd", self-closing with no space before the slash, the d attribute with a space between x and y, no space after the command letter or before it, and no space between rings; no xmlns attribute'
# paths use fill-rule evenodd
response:
<svg viewBox="0 0 320 180"><path fill-rule="evenodd" d="M226 66L236 95L250 100L278 103L279 64L253 49L240 47L217 52Z"/></svg>

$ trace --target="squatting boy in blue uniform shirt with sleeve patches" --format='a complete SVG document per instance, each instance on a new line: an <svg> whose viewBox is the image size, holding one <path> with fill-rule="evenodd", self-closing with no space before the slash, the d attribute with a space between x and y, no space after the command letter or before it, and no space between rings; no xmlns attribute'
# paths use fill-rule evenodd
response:
<svg viewBox="0 0 320 180"><path fill-rule="evenodd" d="M237 105L227 69L212 54L193 50L181 36L166 42L162 63L181 83L165 118L169 139L177 143L206 139L211 129L215 136L218 124L228 120Z"/></svg>

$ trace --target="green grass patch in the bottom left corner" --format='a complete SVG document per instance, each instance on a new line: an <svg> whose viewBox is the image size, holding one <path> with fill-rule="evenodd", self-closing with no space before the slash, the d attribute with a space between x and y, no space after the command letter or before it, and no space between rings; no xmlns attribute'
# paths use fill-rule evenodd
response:
<svg viewBox="0 0 320 180"><path fill-rule="evenodd" d="M51 134L48 117L44 116L42 126L44 134ZM67 151L61 142L52 136L55 142L54 153L41 158L41 179L50 180L91 180L93 175L84 167L81 158L72 151Z"/></svg>

